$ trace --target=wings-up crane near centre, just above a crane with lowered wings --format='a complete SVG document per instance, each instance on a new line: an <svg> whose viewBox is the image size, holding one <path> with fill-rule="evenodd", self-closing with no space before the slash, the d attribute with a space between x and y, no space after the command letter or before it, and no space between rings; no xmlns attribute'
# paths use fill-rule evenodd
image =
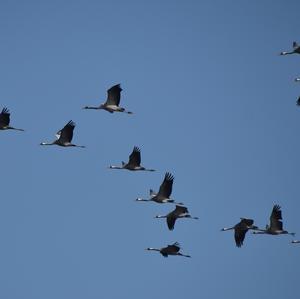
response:
<svg viewBox="0 0 300 299"><path fill-rule="evenodd" d="M165 178L159 187L158 193L155 193L152 189L150 189L149 199L137 198L136 201L154 201L156 203L175 203L182 205L183 203L175 202L173 199L170 199L173 181L174 176L170 172L166 172Z"/></svg>

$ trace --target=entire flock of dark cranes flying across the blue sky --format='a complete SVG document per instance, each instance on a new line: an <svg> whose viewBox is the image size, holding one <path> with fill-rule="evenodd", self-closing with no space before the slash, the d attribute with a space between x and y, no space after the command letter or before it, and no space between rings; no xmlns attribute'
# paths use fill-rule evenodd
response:
<svg viewBox="0 0 300 299"><path fill-rule="evenodd" d="M300 54L300 45L296 42L293 42L292 51L281 52L280 55L289 55L289 54ZM296 78L295 81L300 81L300 78ZM121 100L121 91L122 88L120 84L116 84L107 90L107 100L105 103L100 104L99 106L85 106L83 109L95 109L95 110L106 110L109 113L114 112L123 112L127 114L132 114L131 111L125 110L125 108L120 107ZM300 97L297 101L297 105L300 105ZM72 143L73 132L76 124L70 120L61 130L59 130L55 136L56 139L52 142L41 142L40 145L58 145L62 147L79 147L85 148L83 145L77 145ZM23 129L15 128L10 126L10 112L8 108L4 107L0 113L0 130L17 130L24 131ZM149 171L153 172L155 169L145 168L141 166L141 151L140 148L134 146L131 154L129 155L128 162L125 163L122 161L120 166L110 165L109 169L127 169L130 171ZM188 219L199 219L198 217L191 216L188 211L188 208L184 206L182 202L176 202L174 199L171 199L174 176L170 172L166 172L164 179L159 187L159 191L156 193L150 189L150 197L148 199L137 198L138 202L155 202L159 204L171 203L175 204L175 209L170 211L167 215L157 215L155 218L165 218L167 227L169 230L174 230L175 223L177 219L188 218ZM265 229L261 229L258 226L254 225L253 219L240 218L240 222L236 225L228 228L222 228L221 231L234 230L234 239L237 247L241 247L244 243L246 233L249 230L252 230L253 234L268 234L268 235L281 235L289 234L294 236L295 233L288 232L283 229L282 223L282 211L279 205L274 205L271 215L270 222L266 225ZM299 244L300 240L291 241L293 244ZM178 242L167 245L162 248L152 248L148 247L146 250L149 251L158 251L163 257L168 257L169 255L177 255L183 257L191 257L190 255L182 254L180 252L180 245Z"/></svg>

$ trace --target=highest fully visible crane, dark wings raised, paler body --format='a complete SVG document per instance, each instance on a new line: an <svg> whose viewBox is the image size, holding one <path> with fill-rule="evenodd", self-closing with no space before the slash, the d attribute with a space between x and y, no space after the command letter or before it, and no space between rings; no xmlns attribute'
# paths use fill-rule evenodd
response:
<svg viewBox="0 0 300 299"><path fill-rule="evenodd" d="M120 104L120 99L121 99L121 85L116 84L112 86L110 89L107 90L107 100L105 103L100 104L100 106L85 106L83 109L95 109L95 110L106 110L110 113L114 112L125 112L127 114L133 114L131 111L125 110L125 108L122 108L119 106Z"/></svg>

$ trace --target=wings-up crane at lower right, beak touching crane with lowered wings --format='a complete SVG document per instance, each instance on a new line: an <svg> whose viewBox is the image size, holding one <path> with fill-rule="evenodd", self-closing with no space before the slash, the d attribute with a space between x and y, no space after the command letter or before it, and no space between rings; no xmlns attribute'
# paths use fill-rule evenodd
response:
<svg viewBox="0 0 300 299"><path fill-rule="evenodd" d="M295 233L290 233L283 229L282 213L279 205L274 205L270 216L270 225L266 225L266 229L258 229L253 234L268 234L268 235L282 235L288 234L294 236Z"/></svg>

